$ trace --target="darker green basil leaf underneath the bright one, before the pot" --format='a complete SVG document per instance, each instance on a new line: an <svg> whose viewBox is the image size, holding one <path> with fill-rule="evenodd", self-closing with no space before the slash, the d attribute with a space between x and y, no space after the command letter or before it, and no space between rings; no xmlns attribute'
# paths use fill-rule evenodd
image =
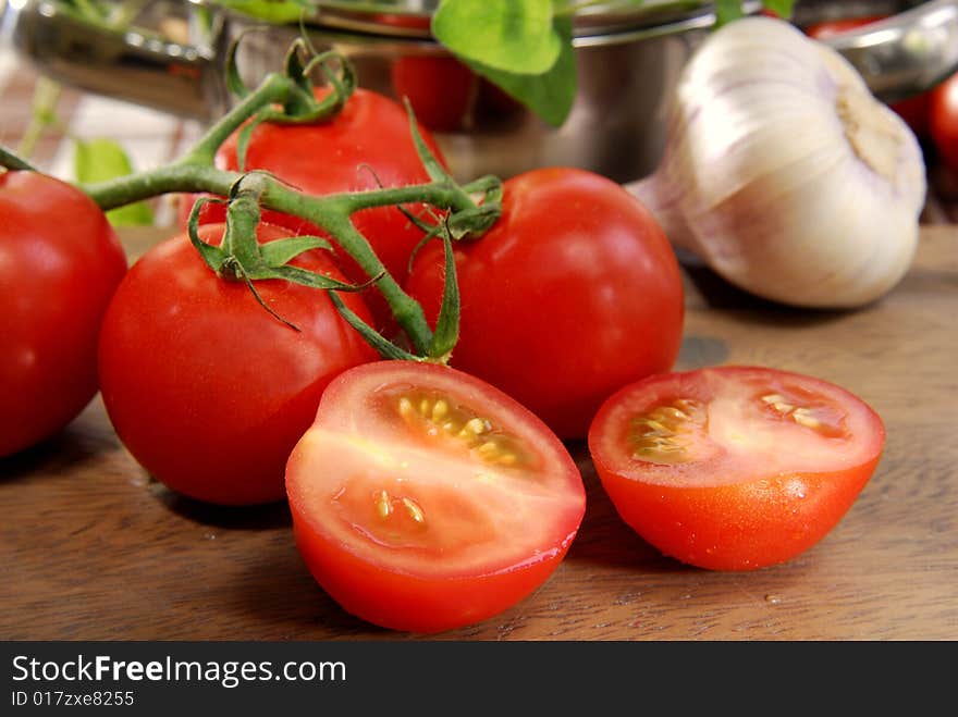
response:
<svg viewBox="0 0 958 717"><path fill-rule="evenodd" d="M572 44L573 21L570 17L556 17L553 25L556 35L562 38L562 50L555 64L544 74L514 74L474 62L469 65L478 74L528 107L548 124L558 127L565 122L573 108L577 77Z"/></svg>

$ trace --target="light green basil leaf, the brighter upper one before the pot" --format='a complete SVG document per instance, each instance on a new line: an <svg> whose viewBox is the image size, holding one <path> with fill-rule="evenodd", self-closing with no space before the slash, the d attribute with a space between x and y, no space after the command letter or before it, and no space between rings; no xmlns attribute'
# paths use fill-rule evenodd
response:
<svg viewBox="0 0 958 717"><path fill-rule="evenodd" d="M562 52L552 0L443 0L435 38L467 62L516 75L541 75Z"/></svg>

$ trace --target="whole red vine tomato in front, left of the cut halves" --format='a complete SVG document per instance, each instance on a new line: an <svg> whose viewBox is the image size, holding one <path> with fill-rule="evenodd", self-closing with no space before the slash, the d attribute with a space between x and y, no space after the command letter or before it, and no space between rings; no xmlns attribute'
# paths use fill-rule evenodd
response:
<svg viewBox="0 0 958 717"><path fill-rule="evenodd" d="M219 244L223 226L200 227ZM260 240L287 232L260 225ZM334 277L328 254L294 261ZM320 290L288 282L249 288L219 279L188 237L173 237L130 270L103 320L103 403L134 458L172 490L199 500L247 505L285 497L283 474L327 384L377 359ZM360 317L356 295L342 295Z"/></svg>

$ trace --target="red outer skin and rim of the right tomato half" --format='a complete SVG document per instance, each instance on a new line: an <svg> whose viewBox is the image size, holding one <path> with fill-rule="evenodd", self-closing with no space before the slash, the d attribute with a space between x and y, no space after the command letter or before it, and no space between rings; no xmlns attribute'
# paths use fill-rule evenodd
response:
<svg viewBox="0 0 958 717"><path fill-rule="evenodd" d="M825 385L809 376L754 367L652 376L624 387L597 415L589 434L595 470L622 519L667 556L710 570L737 571L789 560L821 541L868 483L884 446L882 421L860 399L830 386L833 396L842 396L843 407L859 416L857 425L867 427L863 435L852 437L863 445L855 461L836 459L828 470L776 472L757 458L756 465L740 466L744 475L729 482L723 482L717 473L710 479L708 471L717 469L705 463L676 468L672 484L651 480L652 473L643 478L636 461L634 474L626 475L622 457L603 445L615 430L613 412L643 394L653 395L683 383L701 385L710 372L730 380L747 373L760 381L791 380L812 390ZM744 432L748 430L742 428ZM787 452L789 447L782 445L779 449Z"/></svg>

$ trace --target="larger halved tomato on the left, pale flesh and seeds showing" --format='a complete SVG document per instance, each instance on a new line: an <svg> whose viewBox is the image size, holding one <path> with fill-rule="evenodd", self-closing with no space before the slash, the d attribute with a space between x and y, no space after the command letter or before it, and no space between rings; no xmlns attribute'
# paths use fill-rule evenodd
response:
<svg viewBox="0 0 958 717"><path fill-rule="evenodd" d="M544 423L474 376L414 361L329 385L286 492L319 584L357 617L420 633L530 594L586 508L578 468Z"/></svg>

